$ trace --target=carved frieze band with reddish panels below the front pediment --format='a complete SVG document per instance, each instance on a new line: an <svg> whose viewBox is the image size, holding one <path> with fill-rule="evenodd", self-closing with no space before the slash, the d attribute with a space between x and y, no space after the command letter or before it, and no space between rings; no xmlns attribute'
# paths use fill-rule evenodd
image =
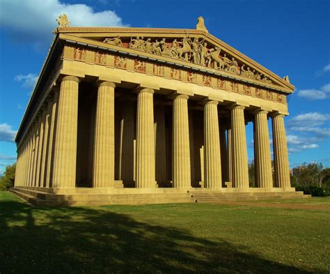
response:
<svg viewBox="0 0 330 274"><path fill-rule="evenodd" d="M70 47L68 47L70 48ZM84 48L71 48L71 50L65 50L67 53L64 58L74 59L76 61L86 62L86 50ZM70 54L72 54L70 56ZM166 77L168 79L177 79L182 82L188 82L192 84L200 84L202 86L210 86L214 89L226 89L235 93L244 94L246 96L255 96L257 98L264 98L266 100L272 100L274 102L285 103L285 96L281 93L272 91L266 91L265 89L253 88L247 84L238 84L230 80L224 80L219 77L213 77L210 75L202 75L200 73L193 73L188 70L173 68L157 63L150 63L148 61L141 61L139 59L129 59L123 56L116 56L103 52L94 52L95 64L100 66L109 66L114 68L120 68L125 70L132 70L138 73L148 73L148 75L155 75L159 77ZM129 64L129 66L127 66ZM244 70L253 73L248 67ZM250 74L251 73L247 73Z"/></svg>

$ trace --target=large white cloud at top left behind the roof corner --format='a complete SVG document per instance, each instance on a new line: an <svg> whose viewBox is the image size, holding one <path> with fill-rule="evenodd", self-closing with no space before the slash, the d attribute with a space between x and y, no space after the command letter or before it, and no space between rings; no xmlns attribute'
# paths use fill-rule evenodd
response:
<svg viewBox="0 0 330 274"><path fill-rule="evenodd" d="M68 15L72 26L123 26L112 10L95 12L82 3L68 4L59 0L1 0L0 25L10 28L15 40L49 43L56 28L56 18ZM17 16L19 15L19 16Z"/></svg>

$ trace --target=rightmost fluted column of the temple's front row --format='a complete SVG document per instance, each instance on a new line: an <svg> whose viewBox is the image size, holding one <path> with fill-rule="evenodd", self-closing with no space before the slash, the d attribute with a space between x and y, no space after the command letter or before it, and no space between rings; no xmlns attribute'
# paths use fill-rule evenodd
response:
<svg viewBox="0 0 330 274"><path fill-rule="evenodd" d="M272 120L276 188L290 188L288 146L283 117L283 114L274 114Z"/></svg>

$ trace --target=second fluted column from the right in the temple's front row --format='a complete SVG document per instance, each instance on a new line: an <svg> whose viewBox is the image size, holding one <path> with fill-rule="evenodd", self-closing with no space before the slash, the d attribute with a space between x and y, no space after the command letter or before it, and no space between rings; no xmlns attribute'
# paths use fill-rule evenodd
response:
<svg viewBox="0 0 330 274"><path fill-rule="evenodd" d="M270 158L269 132L266 111L259 111L255 118L255 164L258 188L272 188L272 160Z"/></svg>

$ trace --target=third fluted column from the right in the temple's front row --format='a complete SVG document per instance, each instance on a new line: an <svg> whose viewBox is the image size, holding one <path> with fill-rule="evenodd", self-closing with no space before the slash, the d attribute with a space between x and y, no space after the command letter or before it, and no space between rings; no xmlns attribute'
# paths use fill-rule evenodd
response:
<svg viewBox="0 0 330 274"><path fill-rule="evenodd" d="M231 109L234 188L249 188L244 108L244 106L235 105Z"/></svg>

